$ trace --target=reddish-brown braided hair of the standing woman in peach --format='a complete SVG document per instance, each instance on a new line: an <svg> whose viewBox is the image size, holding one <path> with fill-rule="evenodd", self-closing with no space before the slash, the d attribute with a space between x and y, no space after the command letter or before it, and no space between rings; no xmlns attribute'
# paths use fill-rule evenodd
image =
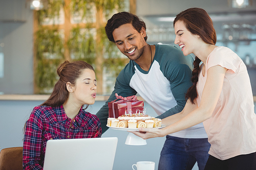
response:
<svg viewBox="0 0 256 170"><path fill-rule="evenodd" d="M174 26L178 20L183 21L186 29L191 34L199 35L205 43L212 45L216 44L217 37L214 29L214 24L212 23L210 16L204 9L189 8L185 11L182 11L174 19ZM196 85L198 82L198 74L200 71L200 62L201 60L196 57L191 78L193 85L188 88L186 93L186 99L190 99L193 104L195 104L194 100L197 98Z"/></svg>

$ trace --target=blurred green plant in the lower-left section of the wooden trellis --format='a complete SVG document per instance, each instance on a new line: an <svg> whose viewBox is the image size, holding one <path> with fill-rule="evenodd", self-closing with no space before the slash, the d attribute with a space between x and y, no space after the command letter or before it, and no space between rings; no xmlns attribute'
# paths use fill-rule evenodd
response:
<svg viewBox="0 0 256 170"><path fill-rule="evenodd" d="M56 69L64 59L63 39L57 28L41 27L36 32L35 83L38 93L47 93L57 81Z"/></svg>

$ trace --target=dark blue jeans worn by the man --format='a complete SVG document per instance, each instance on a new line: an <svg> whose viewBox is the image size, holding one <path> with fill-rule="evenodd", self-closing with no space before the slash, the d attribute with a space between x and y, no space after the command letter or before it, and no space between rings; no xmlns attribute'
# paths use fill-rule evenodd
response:
<svg viewBox="0 0 256 170"><path fill-rule="evenodd" d="M203 170L209 157L210 143L207 138L179 138L166 136L158 170L188 170L197 162Z"/></svg>

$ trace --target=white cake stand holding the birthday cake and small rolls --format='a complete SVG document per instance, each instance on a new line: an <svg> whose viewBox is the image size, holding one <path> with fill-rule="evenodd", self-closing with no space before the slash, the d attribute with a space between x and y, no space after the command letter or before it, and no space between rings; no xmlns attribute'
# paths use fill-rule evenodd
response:
<svg viewBox="0 0 256 170"><path fill-rule="evenodd" d="M139 131L138 128L118 128L118 127L111 127L108 125L106 125L106 126L111 129L120 130L120 131ZM165 127L165 125L162 125L158 129L163 128L163 127ZM146 145L146 140L129 132L129 134L126 137L125 144L127 144L127 145Z"/></svg>

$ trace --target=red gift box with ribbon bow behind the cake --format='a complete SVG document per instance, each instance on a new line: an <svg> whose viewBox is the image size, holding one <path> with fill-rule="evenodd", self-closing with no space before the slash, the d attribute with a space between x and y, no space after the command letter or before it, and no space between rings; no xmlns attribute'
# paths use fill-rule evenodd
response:
<svg viewBox="0 0 256 170"><path fill-rule="evenodd" d="M118 118L118 116L121 116L125 114L125 110L127 111L127 114L130 110L132 110L132 113L136 113L136 110L143 111L144 108L144 102L137 100L136 95L128 96L126 98L123 98L122 96L115 94L117 99L121 99L116 102L116 100L109 102L109 117L115 117Z"/></svg>

